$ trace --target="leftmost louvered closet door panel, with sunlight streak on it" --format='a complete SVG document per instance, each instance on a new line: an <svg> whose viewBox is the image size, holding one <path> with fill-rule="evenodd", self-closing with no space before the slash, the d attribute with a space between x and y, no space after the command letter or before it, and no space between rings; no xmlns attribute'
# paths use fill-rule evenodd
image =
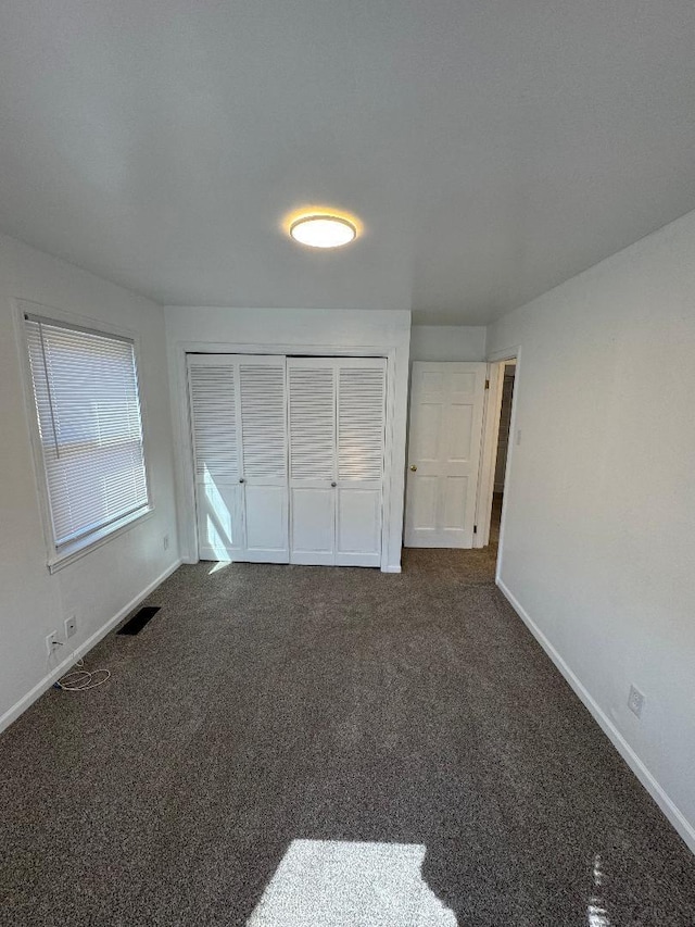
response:
<svg viewBox="0 0 695 927"><path fill-rule="evenodd" d="M230 354L189 354L198 555L242 560L245 550L238 367Z"/></svg>

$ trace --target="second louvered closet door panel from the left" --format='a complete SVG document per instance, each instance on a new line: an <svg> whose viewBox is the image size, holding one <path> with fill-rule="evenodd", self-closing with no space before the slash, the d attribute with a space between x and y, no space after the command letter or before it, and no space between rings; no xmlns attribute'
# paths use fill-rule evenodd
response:
<svg viewBox="0 0 695 927"><path fill-rule="evenodd" d="M285 356L237 358L244 489L244 560L287 563L288 447Z"/></svg>

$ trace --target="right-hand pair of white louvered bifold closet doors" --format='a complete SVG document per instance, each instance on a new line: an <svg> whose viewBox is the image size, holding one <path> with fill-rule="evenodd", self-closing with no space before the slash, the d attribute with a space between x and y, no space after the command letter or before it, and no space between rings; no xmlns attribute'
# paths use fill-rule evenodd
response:
<svg viewBox="0 0 695 927"><path fill-rule="evenodd" d="M379 566L387 363L288 358L290 562Z"/></svg>

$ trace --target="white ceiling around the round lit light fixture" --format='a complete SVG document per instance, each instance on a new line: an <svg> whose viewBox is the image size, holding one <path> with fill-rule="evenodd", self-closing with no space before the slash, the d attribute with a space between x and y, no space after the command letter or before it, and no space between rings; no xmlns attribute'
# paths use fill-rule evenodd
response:
<svg viewBox="0 0 695 927"><path fill-rule="evenodd" d="M695 208L694 52L692 0L4 0L0 228L160 302L485 323Z"/></svg>

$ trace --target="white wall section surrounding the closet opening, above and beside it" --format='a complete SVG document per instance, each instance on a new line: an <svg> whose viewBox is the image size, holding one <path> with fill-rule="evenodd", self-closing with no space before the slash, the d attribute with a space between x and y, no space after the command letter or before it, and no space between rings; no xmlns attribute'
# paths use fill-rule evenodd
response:
<svg viewBox="0 0 695 927"><path fill-rule="evenodd" d="M392 465L384 494L384 531L388 537L390 572L400 571L403 534L403 489L407 410L410 313L407 311L274 310L215 306L165 306L169 348L172 396L175 399L174 440L177 456L179 536L181 555L194 561L194 509L190 462L190 437L186 430L186 350L266 353L338 353L358 355L378 349L393 352L389 378L394 386Z"/></svg>

